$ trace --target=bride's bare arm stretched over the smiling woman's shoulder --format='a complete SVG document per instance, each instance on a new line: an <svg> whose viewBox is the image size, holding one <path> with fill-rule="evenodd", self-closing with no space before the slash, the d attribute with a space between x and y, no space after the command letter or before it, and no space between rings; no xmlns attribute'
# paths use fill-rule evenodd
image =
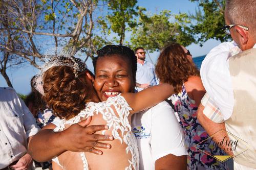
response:
<svg viewBox="0 0 256 170"><path fill-rule="evenodd" d="M161 84L144 89L138 93L122 93L127 103L133 109L132 114L151 108L171 96L174 87L169 84Z"/></svg>

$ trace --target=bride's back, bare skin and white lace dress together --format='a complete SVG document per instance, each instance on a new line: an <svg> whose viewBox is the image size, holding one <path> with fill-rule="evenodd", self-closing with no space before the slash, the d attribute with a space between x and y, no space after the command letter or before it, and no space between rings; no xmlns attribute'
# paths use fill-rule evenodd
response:
<svg viewBox="0 0 256 170"><path fill-rule="evenodd" d="M105 102L87 104L75 117L62 119L54 131L63 131L72 124L92 116L90 125L108 125L109 130L98 132L111 134L113 141L111 150L101 149L103 155L96 155L88 152L75 153L66 151L53 159L63 169L134 169L139 167L139 153L136 138L131 132L130 110L132 108L121 96L109 98Z"/></svg>

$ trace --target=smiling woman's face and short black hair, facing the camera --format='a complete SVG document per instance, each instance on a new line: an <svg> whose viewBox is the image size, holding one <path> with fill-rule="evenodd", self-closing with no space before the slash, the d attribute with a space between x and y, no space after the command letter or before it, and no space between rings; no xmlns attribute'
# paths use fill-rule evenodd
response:
<svg viewBox="0 0 256 170"><path fill-rule="evenodd" d="M107 50L111 49L111 51ZM137 70L137 60L132 50L123 53L121 48L106 45L98 51L93 60L95 70L94 88L100 101L121 92L133 92Z"/></svg>

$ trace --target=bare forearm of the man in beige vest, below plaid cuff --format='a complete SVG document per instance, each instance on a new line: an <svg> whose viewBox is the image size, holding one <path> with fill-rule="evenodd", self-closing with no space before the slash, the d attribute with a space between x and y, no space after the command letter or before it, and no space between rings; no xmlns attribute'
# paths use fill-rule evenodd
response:
<svg viewBox="0 0 256 170"><path fill-rule="evenodd" d="M214 138L212 138L212 139L216 143L218 143L218 142L222 141L223 138L225 137L225 140L228 143L229 137L226 132L225 123L213 122L211 119L209 119L208 117L206 117L204 115L203 110L204 110L204 106L202 104L200 104L198 107L198 110L197 110L197 118L199 120L199 123L203 126L205 131L208 133L208 135L211 136L212 134L215 134L216 132L218 132L214 135ZM223 131L222 129L225 131ZM223 149L228 155L233 155L232 151L230 151L229 148L225 144L219 145L219 147L221 149Z"/></svg>

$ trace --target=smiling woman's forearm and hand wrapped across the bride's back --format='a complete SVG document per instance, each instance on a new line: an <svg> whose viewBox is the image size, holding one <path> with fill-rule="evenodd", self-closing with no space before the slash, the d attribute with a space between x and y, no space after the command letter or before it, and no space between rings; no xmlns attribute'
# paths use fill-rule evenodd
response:
<svg viewBox="0 0 256 170"><path fill-rule="evenodd" d="M108 129L108 126L87 125L91 122L91 117L71 125L61 132L53 132L54 124L49 124L38 132L29 142L28 152L38 162L51 160L55 156L65 151L91 152L101 155L102 151L96 148L110 149L108 143L98 142L99 140L113 140L112 135L94 134L97 131Z"/></svg>

